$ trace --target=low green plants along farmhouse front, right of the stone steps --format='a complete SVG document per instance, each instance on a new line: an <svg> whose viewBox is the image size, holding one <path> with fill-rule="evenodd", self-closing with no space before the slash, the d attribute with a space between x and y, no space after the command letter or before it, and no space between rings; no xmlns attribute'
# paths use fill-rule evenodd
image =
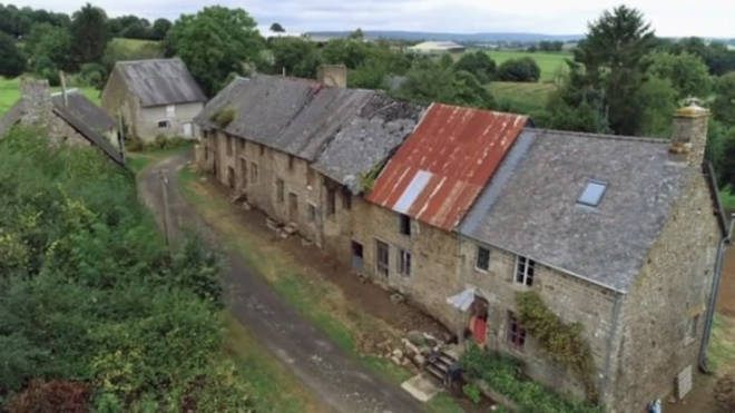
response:
<svg viewBox="0 0 735 413"><path fill-rule="evenodd" d="M523 377L521 364L497 353L470 347L462 354L460 366L472 380L482 380L496 392L513 401L521 412L601 413L602 409L566 400L539 383Z"/></svg>

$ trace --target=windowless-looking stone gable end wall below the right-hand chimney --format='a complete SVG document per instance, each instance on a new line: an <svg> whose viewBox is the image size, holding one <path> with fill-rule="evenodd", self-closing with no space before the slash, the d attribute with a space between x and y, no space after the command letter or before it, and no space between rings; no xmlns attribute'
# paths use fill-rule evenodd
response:
<svg viewBox="0 0 735 413"><path fill-rule="evenodd" d="M698 167L689 169L688 187L625 299L607 400L615 412L675 395L677 374L697 368L722 232L706 178Z"/></svg>

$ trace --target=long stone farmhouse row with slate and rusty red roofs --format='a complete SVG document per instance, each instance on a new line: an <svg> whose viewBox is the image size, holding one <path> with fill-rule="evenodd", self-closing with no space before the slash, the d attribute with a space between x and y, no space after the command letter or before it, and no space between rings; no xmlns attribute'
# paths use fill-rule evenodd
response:
<svg viewBox="0 0 735 413"><path fill-rule="evenodd" d="M459 340L469 330L535 380L584 396L518 319L516 294L535 292L580 326L608 411L633 412L685 396L706 364L729 234L705 166L707 118L680 109L670 140L577 134L256 75L195 119L196 157L234 198Z"/></svg>

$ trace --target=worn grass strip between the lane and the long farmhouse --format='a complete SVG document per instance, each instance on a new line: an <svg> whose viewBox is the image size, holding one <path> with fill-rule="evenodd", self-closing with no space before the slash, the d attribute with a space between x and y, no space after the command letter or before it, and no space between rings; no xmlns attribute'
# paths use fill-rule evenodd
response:
<svg viewBox="0 0 735 413"><path fill-rule="evenodd" d="M361 354L359 340L364 332L380 331L392 338L398 333L385 322L351 308L339 287L297 263L293 256L256 234L243 230L232 205L199 183L190 168L179 173L179 185L186 200L212 225L226 245L263 276L295 309L312 321L343 351L360 358L375 374L392 383L401 383L411 373L389 360Z"/></svg>

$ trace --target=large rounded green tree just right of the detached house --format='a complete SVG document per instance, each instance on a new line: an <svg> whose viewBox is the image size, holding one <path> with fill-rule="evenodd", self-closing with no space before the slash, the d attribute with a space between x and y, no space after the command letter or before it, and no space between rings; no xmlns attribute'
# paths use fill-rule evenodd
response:
<svg viewBox="0 0 735 413"><path fill-rule="evenodd" d="M166 43L209 96L225 86L231 73L244 75L245 63L257 62L263 48L255 20L243 9L220 6L182 16L168 31Z"/></svg>

